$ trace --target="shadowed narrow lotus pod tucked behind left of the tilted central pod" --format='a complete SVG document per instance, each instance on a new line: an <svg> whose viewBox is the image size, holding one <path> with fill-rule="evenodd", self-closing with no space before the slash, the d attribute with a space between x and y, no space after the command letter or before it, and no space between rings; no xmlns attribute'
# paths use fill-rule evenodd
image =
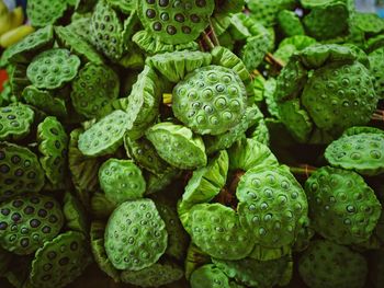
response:
<svg viewBox="0 0 384 288"><path fill-rule="evenodd" d="M159 157L154 145L145 137L132 140L126 135L124 137L124 147L128 157L131 157L137 165L150 173L161 175L169 169L169 164Z"/></svg>

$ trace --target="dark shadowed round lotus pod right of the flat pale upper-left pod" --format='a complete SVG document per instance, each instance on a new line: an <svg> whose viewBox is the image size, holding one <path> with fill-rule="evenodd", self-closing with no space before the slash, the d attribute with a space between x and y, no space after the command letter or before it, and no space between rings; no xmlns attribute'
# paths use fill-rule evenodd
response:
<svg viewBox="0 0 384 288"><path fill-rule="evenodd" d="M88 62L72 81L70 97L77 113L98 118L112 112L118 97L120 80L108 66Z"/></svg>

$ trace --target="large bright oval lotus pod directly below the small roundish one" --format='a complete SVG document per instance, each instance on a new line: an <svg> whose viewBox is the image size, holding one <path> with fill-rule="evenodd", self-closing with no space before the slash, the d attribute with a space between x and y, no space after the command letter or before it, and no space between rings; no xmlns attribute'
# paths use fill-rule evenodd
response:
<svg viewBox="0 0 384 288"><path fill-rule="evenodd" d="M123 203L105 228L105 251L117 269L151 266L166 252L167 243L166 223L150 199Z"/></svg>

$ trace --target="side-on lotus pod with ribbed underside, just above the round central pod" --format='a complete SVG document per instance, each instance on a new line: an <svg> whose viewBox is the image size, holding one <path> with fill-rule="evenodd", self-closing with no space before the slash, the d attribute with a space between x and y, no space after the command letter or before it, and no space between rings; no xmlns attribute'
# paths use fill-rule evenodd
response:
<svg viewBox="0 0 384 288"><path fill-rule="evenodd" d="M189 50L158 54L147 60L151 67L173 83L183 80L195 69L208 66L211 61L211 54Z"/></svg>

